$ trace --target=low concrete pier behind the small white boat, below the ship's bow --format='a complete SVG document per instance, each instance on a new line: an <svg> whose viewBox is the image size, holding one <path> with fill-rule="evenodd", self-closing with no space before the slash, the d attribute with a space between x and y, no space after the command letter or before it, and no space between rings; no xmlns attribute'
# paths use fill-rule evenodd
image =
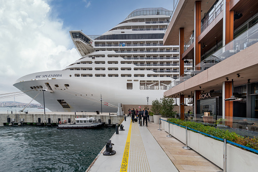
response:
<svg viewBox="0 0 258 172"><path fill-rule="evenodd" d="M77 117L95 117L97 120L101 119L102 122L105 122L107 125L115 125L116 123L121 124L124 120L124 116L117 116L115 114L103 113L96 114L95 112L87 112L87 113L69 113L69 112L48 112L44 114L44 112L30 112L30 113L13 113L13 114L0 114L0 126L3 124L7 124L11 120L13 123L37 123L37 124L58 124L59 121L64 122L75 122L75 118Z"/></svg>

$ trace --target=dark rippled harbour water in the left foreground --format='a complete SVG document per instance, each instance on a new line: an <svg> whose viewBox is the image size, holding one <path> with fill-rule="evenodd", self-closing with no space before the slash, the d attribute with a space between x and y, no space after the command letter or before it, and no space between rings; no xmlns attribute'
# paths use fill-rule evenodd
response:
<svg viewBox="0 0 258 172"><path fill-rule="evenodd" d="M1 171L85 171L114 128L0 127Z"/></svg>

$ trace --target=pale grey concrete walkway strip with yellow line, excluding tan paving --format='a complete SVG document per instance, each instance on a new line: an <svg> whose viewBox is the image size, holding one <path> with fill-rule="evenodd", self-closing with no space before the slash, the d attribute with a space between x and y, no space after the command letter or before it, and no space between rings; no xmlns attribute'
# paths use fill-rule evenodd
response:
<svg viewBox="0 0 258 172"><path fill-rule="evenodd" d="M103 155L104 147L87 172L178 171L146 126L132 123L131 118L123 121L122 125L125 130L115 133L110 139L116 154Z"/></svg>

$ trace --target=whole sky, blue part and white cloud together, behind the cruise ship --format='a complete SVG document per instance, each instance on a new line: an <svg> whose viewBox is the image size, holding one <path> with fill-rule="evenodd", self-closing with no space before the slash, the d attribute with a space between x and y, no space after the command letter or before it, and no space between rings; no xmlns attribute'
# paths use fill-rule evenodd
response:
<svg viewBox="0 0 258 172"><path fill-rule="evenodd" d="M102 35L138 8L173 9L173 0L0 0L0 101L27 74L62 70L79 59L69 30ZM16 101L29 102L28 96Z"/></svg>

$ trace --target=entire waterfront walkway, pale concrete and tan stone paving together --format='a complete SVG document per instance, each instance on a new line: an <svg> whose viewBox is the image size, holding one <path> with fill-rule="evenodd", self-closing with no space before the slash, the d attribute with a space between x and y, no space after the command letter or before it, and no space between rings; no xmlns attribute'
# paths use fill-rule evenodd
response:
<svg viewBox="0 0 258 172"><path fill-rule="evenodd" d="M164 130L157 130L158 124L148 123L148 127L123 121L124 131L114 134L115 155L104 156L106 147L88 167L92 171L223 171L193 150L185 150L183 143L174 137L167 137Z"/></svg>

